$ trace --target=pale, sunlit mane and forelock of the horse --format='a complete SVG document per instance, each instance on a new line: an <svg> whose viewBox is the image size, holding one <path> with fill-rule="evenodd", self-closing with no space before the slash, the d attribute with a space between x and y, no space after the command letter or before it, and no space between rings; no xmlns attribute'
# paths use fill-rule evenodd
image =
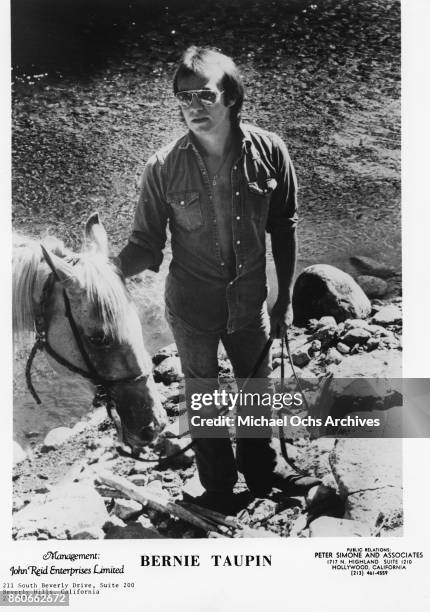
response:
<svg viewBox="0 0 430 612"><path fill-rule="evenodd" d="M15 336L34 332L34 295L42 290L50 272L42 254L41 244L55 255L76 265L77 276L94 305L103 331L117 339L127 335L129 294L115 266L91 250L75 254L61 240L47 236L41 241L16 234L13 240L13 331Z"/></svg>

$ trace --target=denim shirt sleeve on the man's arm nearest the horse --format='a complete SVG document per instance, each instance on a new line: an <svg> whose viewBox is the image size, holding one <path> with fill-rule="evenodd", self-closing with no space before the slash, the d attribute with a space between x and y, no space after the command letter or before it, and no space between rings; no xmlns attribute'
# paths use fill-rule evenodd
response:
<svg viewBox="0 0 430 612"><path fill-rule="evenodd" d="M151 252L158 272L166 244L167 204L162 186L161 164L154 155L147 162L140 181L140 196L129 241Z"/></svg>

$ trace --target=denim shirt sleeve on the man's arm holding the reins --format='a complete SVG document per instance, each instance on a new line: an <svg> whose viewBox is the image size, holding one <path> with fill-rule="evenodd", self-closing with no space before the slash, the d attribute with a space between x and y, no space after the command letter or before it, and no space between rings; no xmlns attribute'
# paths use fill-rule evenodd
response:
<svg viewBox="0 0 430 612"><path fill-rule="evenodd" d="M277 168L277 186L270 201L266 231L293 231L297 226L297 178L283 140L273 139L273 162Z"/></svg>

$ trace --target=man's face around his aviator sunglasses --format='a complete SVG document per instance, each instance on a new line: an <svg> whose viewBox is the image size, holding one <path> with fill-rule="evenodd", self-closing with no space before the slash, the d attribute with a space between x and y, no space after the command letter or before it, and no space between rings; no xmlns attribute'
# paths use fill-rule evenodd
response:
<svg viewBox="0 0 430 612"><path fill-rule="evenodd" d="M181 107L187 127L196 136L216 133L221 126L230 125L230 106L234 104L234 100L231 100L228 106L224 104L225 94L220 94L219 82L220 79L217 77L207 79L194 74L178 81L178 91L209 89L218 93L217 101L214 104L204 104L193 96L189 106Z"/></svg>

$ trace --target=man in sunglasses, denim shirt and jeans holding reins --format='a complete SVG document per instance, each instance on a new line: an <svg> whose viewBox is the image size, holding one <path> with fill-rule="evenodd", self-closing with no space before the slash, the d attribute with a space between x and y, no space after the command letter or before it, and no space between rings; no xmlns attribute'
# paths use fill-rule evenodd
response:
<svg viewBox="0 0 430 612"><path fill-rule="evenodd" d="M296 177L278 136L240 123L244 88L229 57L190 47L173 89L188 133L148 161L133 232L119 262L125 276L158 271L169 223L172 262L166 316L190 408L192 393L217 384L220 341L236 378L244 379L269 334L282 337L292 322ZM279 286L270 320L266 231ZM267 357L256 377L267 380L270 372ZM215 412L209 408L206 414ZM208 499L227 499L237 479L230 439L197 439L195 450ZM257 438L239 437L237 463L255 495L265 495L273 486L304 494L319 483L288 466L268 430Z"/></svg>

